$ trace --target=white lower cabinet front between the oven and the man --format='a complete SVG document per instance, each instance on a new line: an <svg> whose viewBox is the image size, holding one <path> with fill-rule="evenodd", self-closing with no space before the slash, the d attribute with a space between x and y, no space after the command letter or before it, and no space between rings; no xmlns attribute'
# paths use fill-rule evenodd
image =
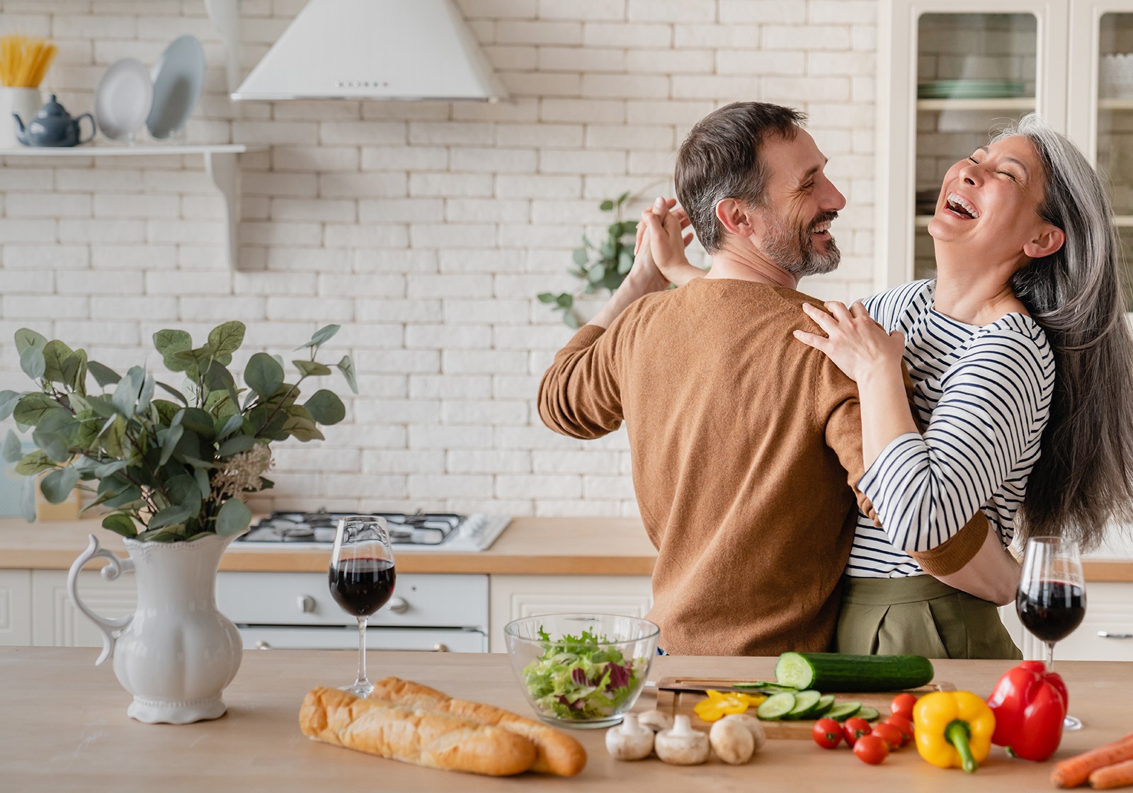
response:
<svg viewBox="0 0 1133 793"><path fill-rule="evenodd" d="M653 607L648 575L492 575L489 648L506 653L503 626L538 614L587 612L645 616Z"/></svg>

